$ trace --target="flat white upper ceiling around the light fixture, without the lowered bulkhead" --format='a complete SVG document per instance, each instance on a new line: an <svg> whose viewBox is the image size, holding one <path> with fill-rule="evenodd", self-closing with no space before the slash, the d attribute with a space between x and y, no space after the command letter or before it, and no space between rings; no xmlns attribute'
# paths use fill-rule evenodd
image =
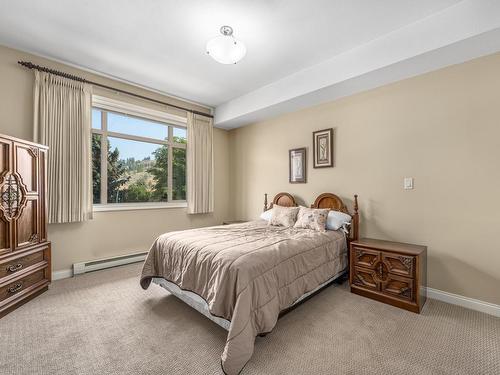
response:
<svg viewBox="0 0 500 375"><path fill-rule="evenodd" d="M218 107L221 122L232 127L245 122L233 118L262 110L266 104L257 108L255 96L276 83L460 3L492 1L4 0L0 44ZM205 54L207 40L224 24L247 46L236 65Z"/></svg>

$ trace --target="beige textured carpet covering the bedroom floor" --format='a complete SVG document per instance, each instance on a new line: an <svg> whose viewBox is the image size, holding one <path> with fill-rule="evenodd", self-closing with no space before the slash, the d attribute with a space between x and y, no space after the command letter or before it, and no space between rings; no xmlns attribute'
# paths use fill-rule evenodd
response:
<svg viewBox="0 0 500 375"><path fill-rule="evenodd" d="M220 374L225 331L140 265L56 281L0 320L2 374ZM500 319L429 300L421 315L332 286L257 338L242 375L500 374Z"/></svg>

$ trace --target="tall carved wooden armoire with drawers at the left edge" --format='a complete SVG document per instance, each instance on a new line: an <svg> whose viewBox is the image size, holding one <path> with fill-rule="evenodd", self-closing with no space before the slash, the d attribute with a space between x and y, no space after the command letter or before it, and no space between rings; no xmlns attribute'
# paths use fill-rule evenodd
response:
<svg viewBox="0 0 500 375"><path fill-rule="evenodd" d="M47 147L0 135L0 317L48 289Z"/></svg>

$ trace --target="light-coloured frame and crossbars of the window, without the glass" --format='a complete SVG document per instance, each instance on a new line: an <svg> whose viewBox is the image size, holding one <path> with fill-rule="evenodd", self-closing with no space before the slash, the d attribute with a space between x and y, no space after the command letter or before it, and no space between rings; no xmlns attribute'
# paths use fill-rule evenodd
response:
<svg viewBox="0 0 500 375"><path fill-rule="evenodd" d="M91 126L91 137L94 134L99 134L101 138L101 203L93 204L94 211L126 211L126 210L143 210L143 209L158 209L158 208L185 208L187 207L186 200L172 199L173 186L173 151L174 148L186 149L186 144L174 142L174 128L187 130L187 118L173 115L168 112L158 111L119 100L106 98L98 95L92 96L92 110L97 109L101 112L101 129L95 129ZM149 137L142 137L120 132L108 131L107 114L115 113L121 116L134 117L141 120L150 120L156 123L161 123L167 127L167 140L160 140ZM168 152L168 178L167 178L167 202L130 202L130 203L108 203L108 137L126 139L131 141L139 141L152 143L157 145L167 146ZM188 142L186 134L186 143ZM186 187L187 190L187 187Z"/></svg>

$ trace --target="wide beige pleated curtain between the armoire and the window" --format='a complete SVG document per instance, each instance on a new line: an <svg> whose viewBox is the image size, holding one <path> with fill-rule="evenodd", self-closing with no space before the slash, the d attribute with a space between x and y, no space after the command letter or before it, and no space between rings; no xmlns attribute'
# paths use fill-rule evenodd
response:
<svg viewBox="0 0 500 375"><path fill-rule="evenodd" d="M91 89L35 71L34 138L49 146L49 223L92 218Z"/></svg>

